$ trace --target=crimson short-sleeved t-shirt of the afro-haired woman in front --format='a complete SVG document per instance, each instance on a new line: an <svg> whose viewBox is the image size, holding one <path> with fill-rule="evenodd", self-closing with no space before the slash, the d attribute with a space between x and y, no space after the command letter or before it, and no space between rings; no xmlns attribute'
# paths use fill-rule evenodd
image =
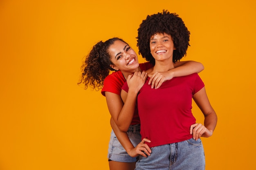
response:
<svg viewBox="0 0 256 170"><path fill-rule="evenodd" d="M204 87L202 79L197 73L174 77L158 89L151 88L148 80L137 98L142 139L150 139L149 147L190 139L189 129L195 124L192 97ZM127 83L123 89L128 91Z"/></svg>

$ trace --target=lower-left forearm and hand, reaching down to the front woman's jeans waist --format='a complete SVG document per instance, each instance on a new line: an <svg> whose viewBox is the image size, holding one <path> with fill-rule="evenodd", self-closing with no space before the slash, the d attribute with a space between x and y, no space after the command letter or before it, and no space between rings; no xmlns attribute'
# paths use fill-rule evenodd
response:
<svg viewBox="0 0 256 170"><path fill-rule="evenodd" d="M134 147L127 135L127 132L123 132L119 130L117 125L115 124L115 121L111 118L110 119L110 125L115 132L115 135L117 139L119 140L120 144L124 147L126 152L131 156L131 157L137 157L138 155L142 155L146 157L145 153L150 156L151 150L148 147L147 144L144 144L146 142L150 142L149 139L143 139L136 147ZM142 152L144 151L144 152Z"/></svg>

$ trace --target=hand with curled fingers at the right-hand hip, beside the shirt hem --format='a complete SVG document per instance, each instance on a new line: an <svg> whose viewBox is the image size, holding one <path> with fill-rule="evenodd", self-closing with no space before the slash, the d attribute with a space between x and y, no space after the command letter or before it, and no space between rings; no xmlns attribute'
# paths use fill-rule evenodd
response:
<svg viewBox="0 0 256 170"><path fill-rule="evenodd" d="M200 137L210 137L213 131L208 130L202 124L193 124L190 126L190 134L193 134L193 139L198 140Z"/></svg>

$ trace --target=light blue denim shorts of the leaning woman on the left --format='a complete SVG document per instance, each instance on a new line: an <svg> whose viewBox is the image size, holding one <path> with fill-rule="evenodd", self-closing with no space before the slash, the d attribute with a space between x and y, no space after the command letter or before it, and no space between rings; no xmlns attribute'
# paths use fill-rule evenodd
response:
<svg viewBox="0 0 256 170"><path fill-rule="evenodd" d="M140 125L132 125L127 131L128 137L133 146L137 146L141 142ZM111 132L110 141L108 144L108 159L118 162L136 162L136 157L130 157L123 146L118 141L115 133Z"/></svg>

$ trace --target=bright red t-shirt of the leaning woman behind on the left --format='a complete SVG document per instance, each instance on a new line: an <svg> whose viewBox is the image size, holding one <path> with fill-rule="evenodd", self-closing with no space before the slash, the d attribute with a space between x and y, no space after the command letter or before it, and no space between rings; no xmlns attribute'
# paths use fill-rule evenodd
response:
<svg viewBox="0 0 256 170"><path fill-rule="evenodd" d="M141 63L139 64L139 67L141 68L141 71L145 71L151 68L152 64L150 64L150 62ZM115 71L104 79L104 84L101 90L101 94L105 96L105 92L108 91L108 92L120 95L121 88L125 82L126 82L126 79L124 78L124 75L122 74L122 72ZM137 107L135 107L134 116L131 122L131 125L135 125L135 124L140 124Z"/></svg>

